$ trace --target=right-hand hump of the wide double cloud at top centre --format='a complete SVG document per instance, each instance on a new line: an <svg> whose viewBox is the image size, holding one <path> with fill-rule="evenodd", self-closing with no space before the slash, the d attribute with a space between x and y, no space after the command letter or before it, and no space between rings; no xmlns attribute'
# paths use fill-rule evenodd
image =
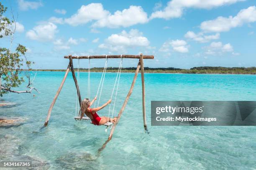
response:
<svg viewBox="0 0 256 170"><path fill-rule="evenodd" d="M148 22L148 15L140 6L130 6L123 11L116 11L113 15L109 14L95 22L93 27L118 28L129 27L135 24L143 24Z"/></svg>

